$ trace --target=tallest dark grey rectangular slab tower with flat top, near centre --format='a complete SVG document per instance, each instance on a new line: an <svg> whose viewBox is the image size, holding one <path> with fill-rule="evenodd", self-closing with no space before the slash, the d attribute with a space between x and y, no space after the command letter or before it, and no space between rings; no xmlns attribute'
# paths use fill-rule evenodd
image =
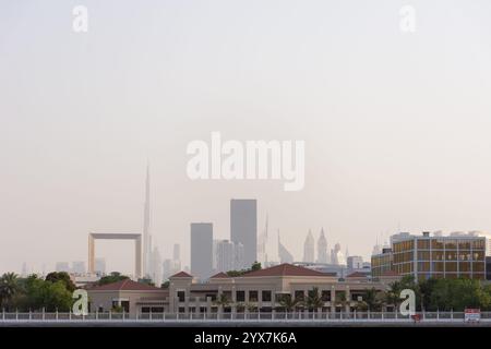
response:
<svg viewBox="0 0 491 349"><path fill-rule="evenodd" d="M230 201L230 239L243 244L244 263L250 267L258 260L258 202Z"/></svg>

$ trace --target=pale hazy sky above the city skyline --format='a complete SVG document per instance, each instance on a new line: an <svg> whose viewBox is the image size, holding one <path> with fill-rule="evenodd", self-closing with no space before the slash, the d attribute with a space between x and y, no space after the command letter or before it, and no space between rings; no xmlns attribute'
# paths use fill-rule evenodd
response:
<svg viewBox="0 0 491 349"><path fill-rule="evenodd" d="M270 253L279 229L297 260L321 227L366 257L398 226L491 230L490 38L489 0L0 0L0 272L140 232L147 159L154 240L184 264L191 221L229 237L231 197L258 198ZM304 140L303 191L189 180L187 144L212 131ZM130 245L97 254L132 272Z"/></svg>

